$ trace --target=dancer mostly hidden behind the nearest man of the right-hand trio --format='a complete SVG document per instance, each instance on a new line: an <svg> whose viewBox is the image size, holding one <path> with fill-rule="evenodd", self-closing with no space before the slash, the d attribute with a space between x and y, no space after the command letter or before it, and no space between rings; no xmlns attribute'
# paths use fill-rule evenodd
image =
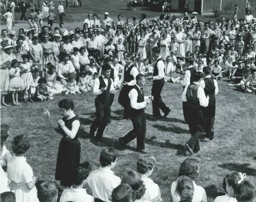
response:
<svg viewBox="0 0 256 202"><path fill-rule="evenodd" d="M183 90L185 86L189 85L194 81L194 76L197 70L193 67L194 58L193 57L185 57L185 65L187 70L185 71L185 76L183 79ZM186 114L187 110L187 102L182 102L183 115L185 122L188 122L188 114Z"/></svg>

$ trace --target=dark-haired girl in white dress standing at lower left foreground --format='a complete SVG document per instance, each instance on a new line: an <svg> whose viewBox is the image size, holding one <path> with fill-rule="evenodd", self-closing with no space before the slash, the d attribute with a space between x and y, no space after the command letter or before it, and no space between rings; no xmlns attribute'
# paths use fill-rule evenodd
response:
<svg viewBox="0 0 256 202"><path fill-rule="evenodd" d="M24 135L13 138L13 155L7 164L7 174L11 181L9 184L11 192L15 193L16 202L39 202L36 190L36 177L27 163L25 153L30 148L30 143L25 140Z"/></svg>

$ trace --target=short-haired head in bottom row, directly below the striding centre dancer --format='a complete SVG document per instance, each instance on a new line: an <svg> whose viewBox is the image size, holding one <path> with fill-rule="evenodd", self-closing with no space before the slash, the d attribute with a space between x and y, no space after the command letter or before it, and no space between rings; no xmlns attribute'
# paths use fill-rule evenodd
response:
<svg viewBox="0 0 256 202"><path fill-rule="evenodd" d="M137 171L140 174L145 174L154 168L156 158L150 154L143 154L137 160Z"/></svg>

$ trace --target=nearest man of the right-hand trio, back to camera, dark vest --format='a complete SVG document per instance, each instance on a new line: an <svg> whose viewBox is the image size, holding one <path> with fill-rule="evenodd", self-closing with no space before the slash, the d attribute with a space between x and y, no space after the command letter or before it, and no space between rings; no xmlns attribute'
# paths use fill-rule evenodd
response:
<svg viewBox="0 0 256 202"><path fill-rule="evenodd" d="M182 94L182 101L187 102L188 126L191 133L191 138L185 144L185 148L191 154L200 150L199 138L205 130L203 108L209 103L209 96L206 97L205 91L199 86L202 76L201 72L195 73L194 82L187 85Z"/></svg>

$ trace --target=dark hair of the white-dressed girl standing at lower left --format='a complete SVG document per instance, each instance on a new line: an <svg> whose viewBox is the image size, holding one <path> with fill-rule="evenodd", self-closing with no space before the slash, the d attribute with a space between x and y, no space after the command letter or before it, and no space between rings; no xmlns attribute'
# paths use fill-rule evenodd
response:
<svg viewBox="0 0 256 202"><path fill-rule="evenodd" d="M30 148L30 143L24 135L16 135L11 142L11 148L15 154L24 154Z"/></svg>

